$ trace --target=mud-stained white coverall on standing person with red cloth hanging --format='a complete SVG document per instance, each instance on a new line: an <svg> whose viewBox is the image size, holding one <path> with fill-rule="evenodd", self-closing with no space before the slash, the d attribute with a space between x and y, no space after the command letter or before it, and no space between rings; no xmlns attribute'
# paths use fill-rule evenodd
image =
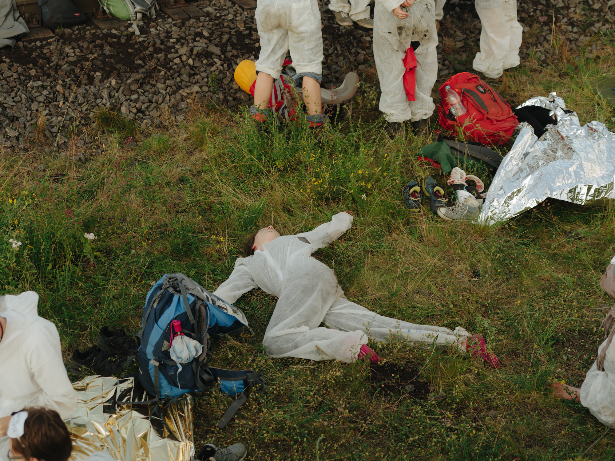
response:
<svg viewBox="0 0 615 461"><path fill-rule="evenodd" d="M435 104L431 90L438 77L438 58L435 47L434 0L416 0L408 7L408 17L400 20L393 9L399 0L376 0L374 9L374 59L382 95L380 111L387 122L416 122L431 117ZM410 42L419 42L416 56L415 101L408 101L403 87L403 58Z"/></svg>

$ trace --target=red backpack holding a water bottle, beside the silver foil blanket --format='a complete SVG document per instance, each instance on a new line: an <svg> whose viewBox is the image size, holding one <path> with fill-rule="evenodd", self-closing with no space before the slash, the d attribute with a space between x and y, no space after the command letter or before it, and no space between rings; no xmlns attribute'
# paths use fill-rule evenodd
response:
<svg viewBox="0 0 615 461"><path fill-rule="evenodd" d="M466 113L455 118L446 101L446 85L461 97ZM470 141L504 146L519 124L509 104L500 93L469 72L456 74L440 87L438 123L451 132L461 130Z"/></svg>

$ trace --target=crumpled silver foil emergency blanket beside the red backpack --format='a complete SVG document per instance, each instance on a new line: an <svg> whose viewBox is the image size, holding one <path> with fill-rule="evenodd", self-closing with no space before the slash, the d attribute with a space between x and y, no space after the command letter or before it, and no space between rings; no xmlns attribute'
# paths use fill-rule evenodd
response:
<svg viewBox="0 0 615 461"><path fill-rule="evenodd" d="M557 125L549 125L540 139L530 124L520 125L478 221L506 221L549 197L577 205L615 199L615 134L596 121L581 126L574 112L564 111L565 103L556 93L531 98L519 107L528 105L551 109Z"/></svg>

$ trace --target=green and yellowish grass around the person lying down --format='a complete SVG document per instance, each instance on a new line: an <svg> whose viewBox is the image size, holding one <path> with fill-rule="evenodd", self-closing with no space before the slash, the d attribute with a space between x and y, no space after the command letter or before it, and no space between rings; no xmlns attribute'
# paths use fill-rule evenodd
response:
<svg viewBox="0 0 615 461"><path fill-rule="evenodd" d="M591 60L554 47L548 68L530 60L494 86L519 102L557 90L582 123L613 130L613 108L590 90L613 74L613 45L600 40ZM245 112L195 103L184 122L155 132L100 109L89 133L104 147L85 165L44 157L40 172L36 149L5 155L0 290L37 291L68 357L93 344L101 325L138 329L162 274L183 272L213 290L251 230L273 224L294 234L349 210L352 229L314 255L347 295L383 315L482 333L504 367L395 338L373 345L386 358L379 367L268 358L261 341L276 299L255 290L237 305L256 335L215 339L212 364L262 371L269 390L222 431L215 423L231 400L198 396L197 446L242 442L253 460L614 459L611 431L544 392L550 377L581 385L602 341L613 204L547 200L493 227L445 223L428 210L411 216L402 184L442 179L415 156L432 136L386 143L377 100L372 73L343 142L317 144L299 124L258 135Z"/></svg>

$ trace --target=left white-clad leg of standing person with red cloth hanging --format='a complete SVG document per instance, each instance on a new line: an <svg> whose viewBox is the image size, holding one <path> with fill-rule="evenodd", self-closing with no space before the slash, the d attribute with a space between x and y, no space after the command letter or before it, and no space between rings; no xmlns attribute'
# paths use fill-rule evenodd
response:
<svg viewBox="0 0 615 461"><path fill-rule="evenodd" d="M383 2L376 1L374 9L374 60L380 81L379 109L387 122L404 122L412 116L408 97L403 87L403 57L399 51L398 20L386 9Z"/></svg>

